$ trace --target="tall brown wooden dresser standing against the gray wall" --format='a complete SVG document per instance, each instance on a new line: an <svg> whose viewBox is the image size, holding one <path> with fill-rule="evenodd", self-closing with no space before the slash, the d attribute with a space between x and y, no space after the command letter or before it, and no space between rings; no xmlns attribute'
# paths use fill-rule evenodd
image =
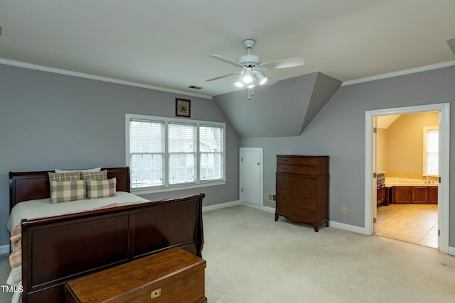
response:
<svg viewBox="0 0 455 303"><path fill-rule="evenodd" d="M277 155L277 204L275 221L328 226L328 156Z"/></svg>

